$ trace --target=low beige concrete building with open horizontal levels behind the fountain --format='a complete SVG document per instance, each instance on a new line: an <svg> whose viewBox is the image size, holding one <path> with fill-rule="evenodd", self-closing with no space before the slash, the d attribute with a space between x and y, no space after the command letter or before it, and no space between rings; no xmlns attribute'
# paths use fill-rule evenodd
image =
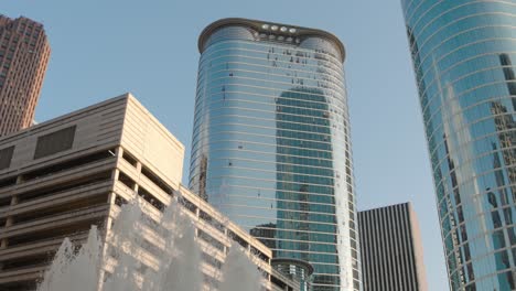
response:
<svg viewBox="0 0 516 291"><path fill-rule="evenodd" d="M195 222L206 282L217 280L233 240L255 257L266 290L299 290L272 268L270 249L180 184L183 154L183 144L129 94L0 138L0 290L34 290L64 237L80 244L92 225L110 237L127 201L141 197L149 225L157 225L178 193ZM157 228L142 231L152 239L143 237L143 255L135 257L141 272L159 268ZM106 244L109 256L117 252ZM103 265L108 274L114 261Z"/></svg>

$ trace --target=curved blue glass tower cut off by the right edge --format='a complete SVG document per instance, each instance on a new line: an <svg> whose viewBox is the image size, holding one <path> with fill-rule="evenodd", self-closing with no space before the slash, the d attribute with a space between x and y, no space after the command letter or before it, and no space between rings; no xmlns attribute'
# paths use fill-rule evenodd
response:
<svg viewBox="0 0 516 291"><path fill-rule="evenodd" d="M452 290L515 290L516 1L402 0Z"/></svg>

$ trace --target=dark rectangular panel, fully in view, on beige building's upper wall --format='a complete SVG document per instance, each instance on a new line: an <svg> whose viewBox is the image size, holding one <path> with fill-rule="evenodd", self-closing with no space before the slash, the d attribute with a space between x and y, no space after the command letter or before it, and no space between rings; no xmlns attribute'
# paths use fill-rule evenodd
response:
<svg viewBox="0 0 516 291"><path fill-rule="evenodd" d="M75 126L37 138L34 160L72 149L75 138Z"/></svg>

